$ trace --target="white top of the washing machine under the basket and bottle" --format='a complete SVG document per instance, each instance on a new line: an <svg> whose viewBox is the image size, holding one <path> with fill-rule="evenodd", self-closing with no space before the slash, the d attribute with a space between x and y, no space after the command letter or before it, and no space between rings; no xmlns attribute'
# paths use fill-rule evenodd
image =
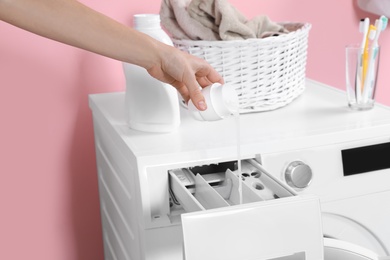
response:
<svg viewBox="0 0 390 260"><path fill-rule="evenodd" d="M181 125L167 134L129 129L124 116L123 92L90 95L95 120L102 120L112 135L122 139L137 158L154 157L156 163L237 157L237 120L196 121L185 109ZM390 109L380 104L369 111L353 111L346 93L313 80L304 93L283 108L242 114L242 158L279 149L300 149L356 139L390 135ZM390 140L389 140L390 141Z"/></svg>

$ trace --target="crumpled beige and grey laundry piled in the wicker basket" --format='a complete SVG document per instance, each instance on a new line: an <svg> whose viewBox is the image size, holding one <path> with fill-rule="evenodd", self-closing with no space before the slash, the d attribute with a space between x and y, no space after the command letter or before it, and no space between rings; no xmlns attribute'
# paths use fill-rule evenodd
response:
<svg viewBox="0 0 390 260"><path fill-rule="evenodd" d="M288 32L265 15L247 20L227 0L163 0L160 16L177 39L241 40Z"/></svg>

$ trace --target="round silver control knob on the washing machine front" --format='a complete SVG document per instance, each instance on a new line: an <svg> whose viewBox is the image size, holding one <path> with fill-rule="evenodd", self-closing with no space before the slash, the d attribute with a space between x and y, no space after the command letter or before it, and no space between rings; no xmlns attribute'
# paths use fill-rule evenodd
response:
<svg viewBox="0 0 390 260"><path fill-rule="evenodd" d="M304 189L309 186L313 173L309 165L301 161L291 162L284 173L288 185L294 189Z"/></svg>

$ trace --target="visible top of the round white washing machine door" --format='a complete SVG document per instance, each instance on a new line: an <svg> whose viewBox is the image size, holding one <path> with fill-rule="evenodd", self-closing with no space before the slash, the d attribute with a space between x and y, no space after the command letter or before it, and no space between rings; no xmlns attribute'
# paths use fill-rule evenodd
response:
<svg viewBox="0 0 390 260"><path fill-rule="evenodd" d="M379 256L364 247L346 241L324 238L324 260L378 260Z"/></svg>

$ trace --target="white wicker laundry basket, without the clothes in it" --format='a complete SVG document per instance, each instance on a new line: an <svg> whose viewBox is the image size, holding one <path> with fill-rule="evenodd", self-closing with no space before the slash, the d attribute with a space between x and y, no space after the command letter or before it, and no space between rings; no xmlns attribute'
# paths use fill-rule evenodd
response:
<svg viewBox="0 0 390 260"><path fill-rule="evenodd" d="M240 113L260 112L283 107L303 93L310 28L306 23L293 32L263 39L173 39L173 43L208 61L225 84L235 86Z"/></svg>

